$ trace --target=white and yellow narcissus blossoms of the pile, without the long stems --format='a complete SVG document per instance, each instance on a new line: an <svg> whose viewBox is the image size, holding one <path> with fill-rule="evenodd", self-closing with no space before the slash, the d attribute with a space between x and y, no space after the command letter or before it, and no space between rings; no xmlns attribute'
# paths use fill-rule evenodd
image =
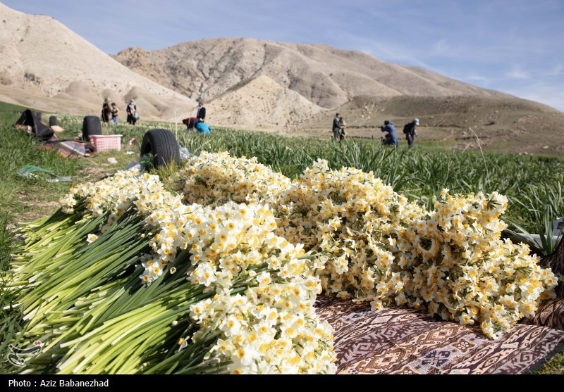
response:
<svg viewBox="0 0 564 392"><path fill-rule="evenodd" d="M210 355L231 362L230 372L334 372L331 327L313 309L321 290L478 324L495 339L557 283L528 248L501 241L507 199L496 192L444 189L427 211L353 167L318 160L290 181L227 153L204 152L181 175L183 195L157 176L124 171L76 186L61 206L73 213L84 199L90 213L108 215L103 232L140 214L146 284L164 279L181 250L190 253L188 278L217 293L190 308L200 328L193 338L221 331ZM244 295L232 296L240 282Z"/></svg>

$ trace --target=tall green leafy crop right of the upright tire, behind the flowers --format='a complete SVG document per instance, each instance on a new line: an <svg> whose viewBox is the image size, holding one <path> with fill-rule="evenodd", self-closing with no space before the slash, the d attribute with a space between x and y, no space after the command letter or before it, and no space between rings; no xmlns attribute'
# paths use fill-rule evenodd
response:
<svg viewBox="0 0 564 392"><path fill-rule="evenodd" d="M450 151L437 146L398 149L377 141L286 138L233 129L214 129L204 137L178 132L177 139L192 153L229 151L234 156L256 156L287 177L299 175L313 160L324 158L329 166L353 166L391 184L397 192L432 208L441 189L453 193L498 191L509 198L506 219L534 232L536 222L550 205L553 217L564 215L564 160L536 156Z"/></svg>

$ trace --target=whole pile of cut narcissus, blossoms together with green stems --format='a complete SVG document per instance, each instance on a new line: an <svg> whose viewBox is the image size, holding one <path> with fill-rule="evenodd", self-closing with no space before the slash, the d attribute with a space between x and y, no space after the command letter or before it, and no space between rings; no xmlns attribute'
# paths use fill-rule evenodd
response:
<svg viewBox="0 0 564 392"><path fill-rule="evenodd" d="M372 173L317 160L293 181L228 153L178 172L180 194L135 171L73 187L23 227L11 279L41 342L23 373L331 374L317 296L407 305L497 339L558 279L501 239L505 196L434 210Z"/></svg>

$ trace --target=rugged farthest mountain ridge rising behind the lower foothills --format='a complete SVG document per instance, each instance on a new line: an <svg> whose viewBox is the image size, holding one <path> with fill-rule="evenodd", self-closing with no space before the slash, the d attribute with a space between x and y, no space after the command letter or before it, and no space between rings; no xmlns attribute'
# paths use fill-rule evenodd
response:
<svg viewBox="0 0 564 392"><path fill-rule="evenodd" d="M125 49L116 59L159 84L207 101L259 75L322 108L336 108L355 96L504 95L326 45L205 39L157 51Z"/></svg>

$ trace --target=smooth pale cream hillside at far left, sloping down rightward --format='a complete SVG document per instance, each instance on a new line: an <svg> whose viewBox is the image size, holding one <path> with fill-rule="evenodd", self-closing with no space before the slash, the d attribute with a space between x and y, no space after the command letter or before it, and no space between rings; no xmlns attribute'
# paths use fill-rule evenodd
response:
<svg viewBox="0 0 564 392"><path fill-rule="evenodd" d="M187 96L133 72L57 20L0 3L0 100L56 113L94 114L104 98L125 108L135 99L142 118L173 121L195 106ZM21 94L25 91L25 94Z"/></svg>

